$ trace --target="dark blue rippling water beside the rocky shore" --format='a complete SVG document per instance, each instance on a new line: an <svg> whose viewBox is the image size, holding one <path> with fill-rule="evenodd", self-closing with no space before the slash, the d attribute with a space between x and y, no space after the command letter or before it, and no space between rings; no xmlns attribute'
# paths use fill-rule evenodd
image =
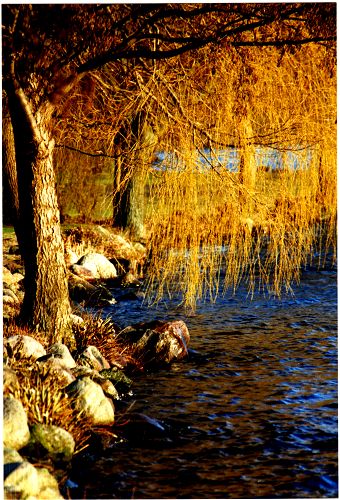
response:
<svg viewBox="0 0 340 500"><path fill-rule="evenodd" d="M107 312L184 319L194 352L136 379L133 412L158 427L106 451L86 498L338 497L334 269L304 271L281 300L240 288L190 317L138 301Z"/></svg>

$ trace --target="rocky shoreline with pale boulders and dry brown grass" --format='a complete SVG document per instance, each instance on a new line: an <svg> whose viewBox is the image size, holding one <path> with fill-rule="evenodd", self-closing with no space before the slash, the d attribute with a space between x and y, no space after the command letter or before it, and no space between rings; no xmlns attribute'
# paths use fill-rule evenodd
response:
<svg viewBox="0 0 340 500"><path fill-rule="evenodd" d="M68 477L72 460L91 446L118 439L116 407L130 397L134 375L188 354L190 335L183 321L139 323L121 330L99 314L101 307L115 303L115 288L129 285L131 299L143 296L143 245L101 226L65 231L64 240L74 349L47 345L39 332L17 325L24 270L15 238L3 240L7 499L70 498L76 486ZM87 307L97 308L98 314L88 314Z"/></svg>

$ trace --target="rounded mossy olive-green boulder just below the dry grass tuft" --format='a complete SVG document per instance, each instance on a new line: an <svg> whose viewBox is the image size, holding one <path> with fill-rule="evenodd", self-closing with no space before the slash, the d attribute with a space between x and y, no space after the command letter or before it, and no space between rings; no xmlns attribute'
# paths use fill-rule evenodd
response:
<svg viewBox="0 0 340 500"><path fill-rule="evenodd" d="M69 461L74 453L73 436L56 425L34 424L31 428L31 441L53 460Z"/></svg>

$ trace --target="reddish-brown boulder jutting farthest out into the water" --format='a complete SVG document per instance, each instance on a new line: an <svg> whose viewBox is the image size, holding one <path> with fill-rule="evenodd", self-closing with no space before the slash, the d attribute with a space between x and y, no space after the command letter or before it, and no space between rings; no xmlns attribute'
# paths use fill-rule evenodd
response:
<svg viewBox="0 0 340 500"><path fill-rule="evenodd" d="M153 321L125 328L119 338L145 366L171 363L188 355L190 335L184 321Z"/></svg>

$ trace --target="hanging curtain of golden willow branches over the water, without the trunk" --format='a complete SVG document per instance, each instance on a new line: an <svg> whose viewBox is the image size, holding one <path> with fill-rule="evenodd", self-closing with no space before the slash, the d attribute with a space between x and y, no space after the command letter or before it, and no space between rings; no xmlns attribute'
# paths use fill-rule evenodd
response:
<svg viewBox="0 0 340 500"><path fill-rule="evenodd" d="M158 145L171 154L145 172L154 299L180 291L194 307L214 299L221 280L227 290L244 279L250 292L280 294L313 256L335 256L336 88L325 61L313 44L296 53L230 49L192 64L191 85L187 74L168 94L159 90L164 72L155 74L150 95L159 108L169 109L169 96L176 107ZM237 172L219 159L226 145L237 148ZM260 158L273 148L282 158L275 172Z"/></svg>

